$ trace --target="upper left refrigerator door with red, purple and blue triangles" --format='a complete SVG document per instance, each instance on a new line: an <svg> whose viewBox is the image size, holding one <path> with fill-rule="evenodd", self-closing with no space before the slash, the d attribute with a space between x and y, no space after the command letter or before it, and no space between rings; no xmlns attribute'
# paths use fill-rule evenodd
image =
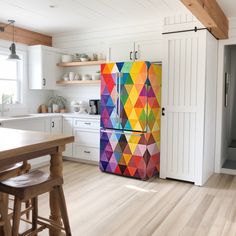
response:
<svg viewBox="0 0 236 236"><path fill-rule="evenodd" d="M101 65L101 127L121 129L119 105L119 70L116 63Z"/></svg>

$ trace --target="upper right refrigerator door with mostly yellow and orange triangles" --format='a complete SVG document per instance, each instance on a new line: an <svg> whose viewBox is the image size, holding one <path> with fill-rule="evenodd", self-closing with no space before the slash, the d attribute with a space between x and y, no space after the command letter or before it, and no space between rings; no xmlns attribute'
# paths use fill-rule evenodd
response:
<svg viewBox="0 0 236 236"><path fill-rule="evenodd" d="M120 69L118 114L124 130L147 131L147 72L143 61L124 62Z"/></svg>

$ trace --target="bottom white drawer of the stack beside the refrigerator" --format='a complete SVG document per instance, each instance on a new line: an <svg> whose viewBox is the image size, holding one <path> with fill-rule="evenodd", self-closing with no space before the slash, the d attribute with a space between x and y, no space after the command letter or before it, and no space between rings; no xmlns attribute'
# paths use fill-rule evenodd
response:
<svg viewBox="0 0 236 236"><path fill-rule="evenodd" d="M97 161L99 160L99 149L92 147L84 147L77 144L74 144L74 157L89 160L89 161Z"/></svg>

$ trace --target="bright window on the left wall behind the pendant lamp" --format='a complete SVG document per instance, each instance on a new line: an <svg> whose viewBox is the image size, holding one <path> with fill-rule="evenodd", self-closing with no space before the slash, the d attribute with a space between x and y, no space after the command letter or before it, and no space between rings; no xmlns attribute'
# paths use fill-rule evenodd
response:
<svg viewBox="0 0 236 236"><path fill-rule="evenodd" d="M0 52L0 103L2 98L5 103L20 101L20 66L21 61L7 60L8 54Z"/></svg>

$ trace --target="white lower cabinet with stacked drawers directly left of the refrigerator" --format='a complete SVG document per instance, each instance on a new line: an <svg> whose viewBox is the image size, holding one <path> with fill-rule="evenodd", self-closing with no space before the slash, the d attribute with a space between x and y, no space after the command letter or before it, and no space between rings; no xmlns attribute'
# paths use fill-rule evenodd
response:
<svg viewBox="0 0 236 236"><path fill-rule="evenodd" d="M100 148L100 120L63 118L63 134L74 135L75 142L66 146L64 157L98 163Z"/></svg>

